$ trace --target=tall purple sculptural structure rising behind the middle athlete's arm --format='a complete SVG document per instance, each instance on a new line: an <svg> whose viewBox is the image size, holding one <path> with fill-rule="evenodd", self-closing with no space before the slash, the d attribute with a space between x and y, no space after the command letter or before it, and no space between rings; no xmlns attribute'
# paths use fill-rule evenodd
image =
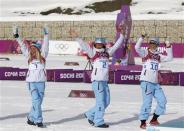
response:
<svg viewBox="0 0 184 131"><path fill-rule="evenodd" d="M122 59L126 55L126 46L130 38L130 31L132 27L132 18L129 5L122 5L121 12L117 15L116 29L119 27L120 24L125 25L126 38L124 39L122 46L114 53L112 64L114 64L117 59ZM119 38L119 36L120 33L117 32L116 40Z"/></svg>

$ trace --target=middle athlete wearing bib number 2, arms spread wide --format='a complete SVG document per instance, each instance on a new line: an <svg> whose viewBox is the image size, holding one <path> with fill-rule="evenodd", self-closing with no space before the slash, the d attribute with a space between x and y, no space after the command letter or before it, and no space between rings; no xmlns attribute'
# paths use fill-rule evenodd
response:
<svg viewBox="0 0 184 131"><path fill-rule="evenodd" d="M117 42L109 49L97 48L94 46L91 48L82 39L78 38L77 41L80 44L82 50L86 51L88 56L93 61L93 70L91 74L92 88L96 97L96 105L85 113L90 124L95 127L108 128L109 126L104 123L105 109L110 103L110 92L108 86L109 80L109 56L120 47L123 42L123 35L120 35ZM96 38L95 44L102 44L105 46L105 40L103 38Z"/></svg>

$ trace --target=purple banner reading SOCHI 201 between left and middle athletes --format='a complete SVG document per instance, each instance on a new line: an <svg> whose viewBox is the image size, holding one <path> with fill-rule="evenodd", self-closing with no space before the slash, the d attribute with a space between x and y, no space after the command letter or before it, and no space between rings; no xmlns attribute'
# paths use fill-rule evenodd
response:
<svg viewBox="0 0 184 131"><path fill-rule="evenodd" d="M83 70L55 70L54 78L56 82L83 82Z"/></svg>

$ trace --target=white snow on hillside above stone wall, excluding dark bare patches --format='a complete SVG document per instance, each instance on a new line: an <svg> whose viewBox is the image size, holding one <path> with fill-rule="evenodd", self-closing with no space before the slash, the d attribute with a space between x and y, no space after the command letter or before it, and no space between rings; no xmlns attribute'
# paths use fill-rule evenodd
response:
<svg viewBox="0 0 184 131"><path fill-rule="evenodd" d="M119 10L104 13L92 11L84 15L40 15L41 11L57 7L86 10L86 5L102 1L110 0L0 0L0 20L115 20ZM183 0L133 0L132 3L130 8L134 20L184 19Z"/></svg>

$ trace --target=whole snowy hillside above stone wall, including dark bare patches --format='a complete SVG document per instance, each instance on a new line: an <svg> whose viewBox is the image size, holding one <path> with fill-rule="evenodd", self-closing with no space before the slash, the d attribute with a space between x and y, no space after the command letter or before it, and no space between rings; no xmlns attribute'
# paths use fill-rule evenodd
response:
<svg viewBox="0 0 184 131"><path fill-rule="evenodd" d="M130 0L129 0L130 1ZM120 0L0 0L0 17L114 20ZM184 19L184 0L132 0L133 19ZM94 15L95 14L95 15ZM46 15L47 17L41 17ZM30 17L29 17L30 18ZM25 18L23 18L25 19Z"/></svg>

